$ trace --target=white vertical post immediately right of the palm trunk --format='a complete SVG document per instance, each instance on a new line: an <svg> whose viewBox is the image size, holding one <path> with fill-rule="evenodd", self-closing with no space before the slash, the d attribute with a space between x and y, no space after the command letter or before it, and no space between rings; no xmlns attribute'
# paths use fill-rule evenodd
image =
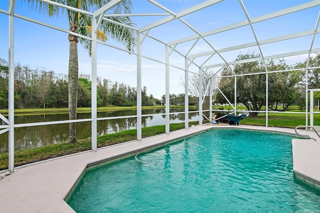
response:
<svg viewBox="0 0 320 213"><path fill-rule="evenodd" d="M91 30L91 38L92 38L92 46L91 46L91 150L97 150L97 120L96 120L96 17L92 17L91 19L92 30Z"/></svg>

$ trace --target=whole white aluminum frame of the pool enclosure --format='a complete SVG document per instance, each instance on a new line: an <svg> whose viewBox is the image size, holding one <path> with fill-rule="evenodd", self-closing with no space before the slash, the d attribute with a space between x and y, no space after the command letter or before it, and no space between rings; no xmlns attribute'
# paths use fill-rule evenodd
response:
<svg viewBox="0 0 320 213"><path fill-rule="evenodd" d="M86 15L90 15L92 18L92 35L91 37L86 37L86 36L82 36L76 33L73 33L69 30L65 30L62 29L60 27L56 27L50 24L46 24L19 14L15 14L14 13L14 8L15 8L15 0L8 0L9 1L9 8L8 10L3 10L0 9L1 13L7 14L9 16L9 54L8 54L8 58L9 58L9 82L8 82L8 91L9 91L9 106L8 106L8 119L6 119L3 115L0 114L0 119L4 120L5 123L7 124L0 124L0 133L3 133L5 131L9 131L9 136L8 136L8 140L9 140L9 166L8 166L8 171L9 172L13 172L14 171L14 128L16 127L23 127L23 126L34 126L34 125L49 125L49 124L57 124L57 123L69 123L69 122L83 122L83 121L91 121L91 149L92 151L96 151L97 150L97 144L96 144L96 128L97 128L97 120L105 120L105 119L117 119L117 118L127 118L127 117L136 117L137 118L137 140L141 140L142 136L141 136L141 117L142 116L148 116L148 115L142 115L141 110L141 84L142 84L142 76L141 76L141 72L142 72L142 61L141 58L147 58L162 64L165 64L165 133L169 133L169 115L171 114L169 112L169 105L170 105L170 101L169 101L169 94L170 94L170 88L169 88L169 73L170 73L170 67L174 67L174 68L178 68L181 70L184 70L184 83L185 83L185 108L184 108L184 113L185 114L185 128L188 128L188 73L193 73L193 74L198 74L199 75L199 115L200 115L200 119L199 119L199 124L202 123L202 102L204 100L204 97L202 98L202 83L200 83L202 81L202 77L209 77L210 81L212 81L213 78L220 78L220 76L217 76L217 73L222 69L220 68L219 71L215 72L212 76L207 76L206 75L206 70L208 68L214 68L214 67L223 67L223 66L228 66L231 71L232 70L232 65L237 64L237 63L244 63L244 62L250 62L250 61L258 61L258 60L262 60L265 61L267 59L272 59L272 58L278 58L278 57L285 57L285 56L293 56L293 55L300 55L300 54L308 54L308 60L310 57L311 53L318 53L320 52L320 47L313 47L314 44L314 39L315 39L315 35L317 33L320 32L320 30L318 29L318 25L319 25L319 21L320 21L320 12L319 15L315 21L315 27L313 29L307 30L307 31L303 31L303 32L297 32L297 33L293 33L293 34L288 34L288 35L284 35L284 36L278 36L278 37L273 37L273 38L269 38L269 39L265 39L265 40L259 40L255 30L253 28L253 24L257 23L257 22L261 22L270 18L274 18L274 17L278 17L278 16L282 16L282 15L286 15L289 13L294 13L297 11L300 11L302 9L307 9L310 7L314 7L314 6L319 6L320 5L320 1L319 0L313 0L313 1L309 1L306 3L302 3L296 6L292 6L289 8L285 8L279 11L275 11L275 12L271 12L269 14L265 14L265 15L261 15L255 18L250 18L245 5L243 4L242 0L238 0L243 13L245 14L247 20L245 21L241 21L241 22L237 22L234 24L230 24L230 25L226 25L220 28L216 28L216 29L212 29L206 32L199 32L196 29L196 26L192 26L191 24L187 23L184 19L183 16L187 15L187 14L191 14L192 12L201 10L203 8L206 7L210 7L210 6L214 6L214 4L221 2L222 0L206 0L203 2L200 2L190 8L184 9L182 11L179 12L174 12L168 8L166 8L165 6L161 5L159 2L157 2L156 0L146 0L146 3L152 3L154 5L156 5L157 7L159 7L160 9L164 10L163 13L139 13L139 14L105 14L105 12L107 10L109 10L110 8L112 8L114 5L116 5L117 3L119 3L121 0L112 0L110 2L108 2L106 5L102 6L101 8L97 9L96 11L89 12L89 11L84 11L78 8L73 8L64 4L60 4L60 3L56 3L54 1L50 1L50 0L39 0L48 4L52 4L55 6L59 6L59 7L63 7L65 9L70 9L73 11L77 11ZM148 24L146 26L140 27L140 28L134 28L131 26L126 26L123 25L121 23L117 23L114 21L111 21L109 19L107 19L107 17L109 16L119 16L119 15L123 15L123 16L150 16L150 15L161 15L161 16L166 16L158 21L155 21L151 24ZM24 123L24 124L14 124L14 81L13 81L13 70L14 70L14 59L13 59L13 52L14 52L14 44L13 44L13 36L14 36L14 31L13 31L13 27L14 27L14 23L13 23L13 19L15 18L21 18L27 21L31 21L37 24L41 24L43 26L46 27L50 27L53 28L55 30L59 30L59 31L63 31L66 33L70 33L73 35L77 35L79 37L85 38L85 39L90 39L92 40L92 55L91 55L91 76L92 76L92 89L91 89L91 103L92 103L92 110L91 110L91 118L87 118L87 119L76 119L76 120L62 120L62 121L50 121L50 122L37 122L37 123ZM115 46L115 45L111 45L108 44L106 42L101 42L101 41L97 41L95 38L95 34L97 29L99 28L99 24L101 23L101 20L107 20L116 24L120 24L126 27L129 27L133 30L136 31L136 37L137 37L137 48L136 48L136 52L133 51L128 51L126 49L123 49L121 47ZM181 23L183 23L187 28L191 29L194 32L194 35L192 36L188 36L182 39L178 39L178 40L173 40L170 42L164 42L158 38L156 38L155 36L152 36L149 34L149 30L151 28L160 26L162 24L165 24L169 21L172 20L178 20L181 21ZM221 49L217 49L215 48L206 38L206 36L208 35L212 35L212 34L216 34L219 32L223 32L226 30L230 30L230 29L234 29L234 28L238 28L238 27L242 27L242 26L246 26L249 25L251 28L251 32L254 35L255 38L255 42L250 42L250 43L243 43L240 45L235 45L235 46L229 46L226 48L221 48ZM262 44L267 44L267 43L273 43L273 42L277 42L277 41L282 41L282 40L286 40L286 39L292 39L292 38L297 38L297 37L302 37L302 36L306 36L306 35L312 35L311 41L310 41L310 46L309 49L301 49L299 51L295 51L295 52L287 52L287 53L282 53L282 54L277 54L277 55L264 55L261 49L261 45ZM145 37L149 37L152 40L159 42L163 45L165 45L165 61L160 61L158 59L155 58L151 58L147 55L142 55L141 54L141 49L142 49L142 43ZM201 52L201 53L197 53L197 54L189 54L191 52L191 49L195 46L195 44L200 40L203 39L203 41L212 49L211 51L206 51L206 52ZM186 54L181 53L179 50L177 50L176 46L177 44L186 42L186 41L193 41L193 44L189 47L189 50L187 51ZM103 45L107 45L122 51L126 51L129 52L133 55L136 55L137 57L137 113L136 115L131 115L131 116L119 116L119 117L102 117L102 118L97 118L97 111L96 111L96 46L97 43L103 44ZM231 51L231 50L238 50L241 48L247 48L247 47L252 47L252 46L257 46L259 51L260 51L260 55L261 57L259 58L251 58L251 59L246 59L246 60L240 60L240 61L227 61L225 58L223 58L223 56L220 54L222 52L226 52L226 51ZM170 64L170 55L171 53L175 51L177 54L181 55L181 60L184 60L184 67L178 67L176 65L172 65ZM217 54L224 62L223 63L214 63L214 64L208 64L208 60L214 55ZM196 58L199 58L201 56L207 56L206 60L203 60L201 62L201 64L197 64L195 61ZM307 61L308 61L307 60ZM198 70L191 70L190 65L193 65L195 67L197 67ZM265 66L265 65L264 65ZM307 79L307 69L312 68L312 67L308 67L308 62L307 65L305 67L305 76L306 76L306 80ZM282 70L282 71L288 71L288 70ZM272 72L278 72L278 71L274 71L274 70L267 70L266 66L265 66L265 73L266 74L266 78L268 77L268 73L272 73ZM254 73L254 74L261 74L261 73ZM233 72L234 77L234 83L235 83L235 88L234 88L234 105L232 105L230 103L229 100L227 100L230 105L233 107L234 113L236 113L237 109L236 109L236 77L237 76L241 76L241 75L235 75ZM212 85L210 85L209 89L209 98L210 98L210 102L212 102ZM306 85L306 96L308 93L308 88ZM268 88L266 86L266 96L268 94ZM223 95L223 93L222 93ZM266 104L268 103L268 99L266 98ZM211 104L210 104L211 105ZM306 112L287 112L287 113L305 113L306 116L306 124L307 124L307 117L308 117L308 111L307 111L307 106L308 106L308 101L306 100L305 102L305 106L306 106ZM210 119L212 116L212 106L210 106L209 109L209 113L210 113ZM266 112L266 126L267 126L267 114L270 113L270 111L268 111L266 109L266 111L259 111L259 112Z"/></svg>

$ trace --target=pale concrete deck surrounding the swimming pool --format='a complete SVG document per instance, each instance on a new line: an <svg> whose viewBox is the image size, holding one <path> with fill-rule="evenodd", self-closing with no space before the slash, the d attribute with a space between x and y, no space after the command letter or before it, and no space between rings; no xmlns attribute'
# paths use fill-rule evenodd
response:
<svg viewBox="0 0 320 213"><path fill-rule="evenodd" d="M141 141L129 141L115 144L103 148L98 151L85 151L64 157L59 157L27 166L21 166L10 175L0 180L0 212L74 212L73 209L64 201L69 191L78 180L84 169L88 165L105 162L105 160L117 160L124 158L128 154L137 153L143 149L150 148L166 141L172 141L185 137L190 134L205 131L210 128L242 128L252 130L267 130L276 132L285 132L295 134L294 129L249 126L249 125L200 125L193 126L188 129L181 129L170 132L169 134L161 134L157 136L143 138ZM298 146L294 151L298 151L301 147L308 157L312 154L320 153L320 138L317 138L313 131L298 130L300 134L306 134L316 138L317 143L311 142L309 139L297 139ZM302 140L302 141L301 141ZM304 144L301 144L304 142ZM307 143L305 143L307 142ZM312 149L311 153L308 150ZM320 156L313 156L318 159ZM300 159L302 158L302 159ZM297 155L293 157L293 162L297 162L298 174L308 177L311 169L312 179L320 182L320 165L319 160L309 161L305 155ZM305 166L303 163L312 166ZM303 172L299 169L303 168ZM293 166L293 170L295 165ZM317 170L318 169L318 170ZM0 173L5 174L5 173Z"/></svg>

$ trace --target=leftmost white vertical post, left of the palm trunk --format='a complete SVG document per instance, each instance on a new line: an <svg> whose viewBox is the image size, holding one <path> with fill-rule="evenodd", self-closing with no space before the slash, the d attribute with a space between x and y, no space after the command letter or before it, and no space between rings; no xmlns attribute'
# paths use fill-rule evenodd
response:
<svg viewBox="0 0 320 213"><path fill-rule="evenodd" d="M9 8L12 9L13 1L9 1ZM8 170L14 171L14 60L13 60L13 14L9 15L9 82L8 82Z"/></svg>

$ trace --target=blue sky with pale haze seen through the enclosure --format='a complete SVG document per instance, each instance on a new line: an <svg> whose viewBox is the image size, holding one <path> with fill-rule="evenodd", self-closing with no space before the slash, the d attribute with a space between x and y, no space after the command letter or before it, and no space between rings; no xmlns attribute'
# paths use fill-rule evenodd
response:
<svg viewBox="0 0 320 213"><path fill-rule="evenodd" d="M279 9L291 7L309 0L243 0L243 4L250 18L258 17ZM187 9L200 0L158 0L173 12ZM146 0L132 0L131 13L165 13L162 9ZM8 1L0 0L0 9L7 10ZM283 17L268 19L263 22L254 23L253 27L258 40L264 40L276 36L313 30L320 6L305 9ZM30 8L24 1L16 1L15 14L27 16L32 19L45 22L57 27L68 29L66 14L59 17L48 17L39 13L35 8ZM143 27L165 16L132 16L136 28ZM227 26L246 20L238 0L224 0L202 10L196 11L182 17L197 31L203 33L212 29ZM149 34L163 42L171 42L184 37L194 35L195 32L181 21L173 20L152 28ZM206 37L210 44L216 48L225 48L255 41L250 26L243 26ZM311 36L303 36L295 39L274 42L261 45L264 55L274 55L291 51L309 49ZM109 39L107 43L123 46ZM187 53L194 41L188 41L176 46L181 53ZM320 47L320 35L317 34L313 48ZM55 73L67 74L68 69L69 42L67 33L54 30L20 18L14 18L14 62L28 65L30 68L53 70ZM210 51L212 48L203 40L199 39L189 54ZM136 51L136 50L135 50ZM240 49L237 51L223 52L221 55L227 61L232 61L239 53L259 53L257 47ZM165 46L149 37L142 43L142 55L165 61ZM298 55L284 58L288 63L294 64L305 60L307 55ZM8 60L8 15L0 12L0 58ZM91 74L91 58L78 44L79 73ZM109 46L98 44L97 46L97 76L101 79L109 79L113 82L123 82L131 87L136 87L136 55L125 51L114 49ZM184 93L182 78L184 71L176 66L184 67L184 58L176 52L170 55L170 93ZM206 58L194 60L202 64ZM205 64L221 63L223 60L218 55L213 55ZM189 67L191 71L197 72L195 66ZM214 69L214 68L213 68ZM142 86L146 86L147 94L161 98L165 94L165 66L147 58L142 58Z"/></svg>

